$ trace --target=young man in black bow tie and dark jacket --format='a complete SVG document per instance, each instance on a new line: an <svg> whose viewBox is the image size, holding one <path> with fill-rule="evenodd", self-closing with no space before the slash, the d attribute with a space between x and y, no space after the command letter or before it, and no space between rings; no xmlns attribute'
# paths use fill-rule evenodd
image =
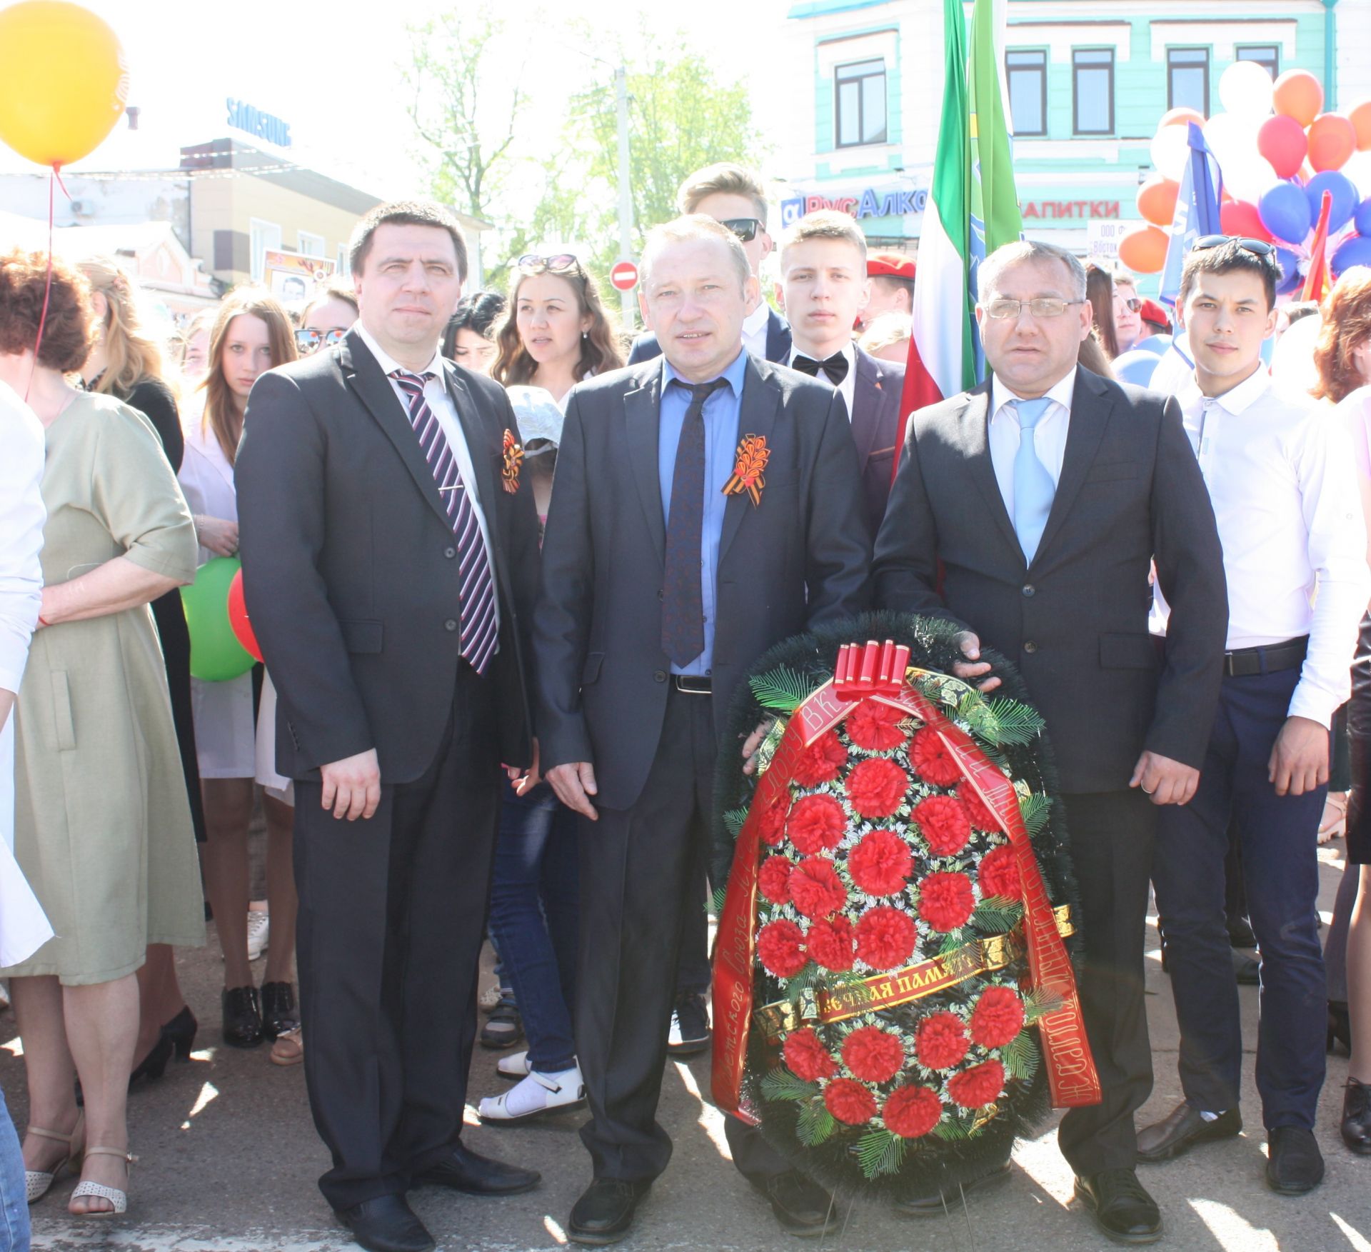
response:
<svg viewBox="0 0 1371 1252"><path fill-rule="evenodd" d="M877 361L853 343L853 322L871 296L871 280L866 239L849 214L809 213L786 230L776 296L790 317L792 344L786 363L831 383L847 407L875 539L895 466L905 368Z"/></svg>

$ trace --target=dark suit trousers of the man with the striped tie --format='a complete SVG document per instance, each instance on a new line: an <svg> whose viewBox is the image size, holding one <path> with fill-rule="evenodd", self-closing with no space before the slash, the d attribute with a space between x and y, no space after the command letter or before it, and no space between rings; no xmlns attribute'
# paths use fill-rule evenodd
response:
<svg viewBox="0 0 1371 1252"><path fill-rule="evenodd" d="M495 684L463 661L433 762L337 820L296 782L304 1078L333 1208L403 1193L462 1133L499 817Z"/></svg>

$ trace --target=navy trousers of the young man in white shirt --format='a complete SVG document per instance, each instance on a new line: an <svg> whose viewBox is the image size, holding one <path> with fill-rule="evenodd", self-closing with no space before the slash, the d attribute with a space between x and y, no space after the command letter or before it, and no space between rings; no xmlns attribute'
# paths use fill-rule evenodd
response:
<svg viewBox="0 0 1371 1252"><path fill-rule="evenodd" d="M1238 1107L1242 1031L1223 912L1230 817L1261 957L1257 1090L1268 1129L1313 1127L1324 1072L1318 832L1327 787L1276 795L1267 762L1300 669L1224 677L1200 788L1160 819L1152 876L1180 1024L1180 1086L1206 1112Z"/></svg>

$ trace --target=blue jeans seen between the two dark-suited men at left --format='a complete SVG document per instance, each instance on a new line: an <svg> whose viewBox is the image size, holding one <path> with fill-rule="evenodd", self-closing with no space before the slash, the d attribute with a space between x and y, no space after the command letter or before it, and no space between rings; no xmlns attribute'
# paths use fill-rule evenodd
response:
<svg viewBox="0 0 1371 1252"><path fill-rule="evenodd" d="M576 1063L572 1013L580 917L576 815L547 783L526 795L505 784L491 884L491 934L514 989L529 1068Z"/></svg>

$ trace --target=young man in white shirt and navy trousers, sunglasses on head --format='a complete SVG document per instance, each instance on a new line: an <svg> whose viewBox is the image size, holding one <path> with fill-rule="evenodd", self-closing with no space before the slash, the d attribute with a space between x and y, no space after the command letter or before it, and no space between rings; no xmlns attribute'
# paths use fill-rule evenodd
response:
<svg viewBox="0 0 1371 1252"><path fill-rule="evenodd" d="M1176 302L1196 363L1178 400L1223 543L1228 650L1198 790L1160 813L1153 886L1185 1101L1139 1133L1138 1155L1168 1160L1242 1130L1224 928L1233 817L1261 950L1256 1078L1267 1183L1302 1194L1323 1179L1313 1120L1326 991L1315 909L1328 727L1349 694L1371 577L1346 436L1308 396L1278 392L1261 361L1279 274L1270 244L1208 236L1186 259ZM1158 597L1154 625L1165 613Z"/></svg>

